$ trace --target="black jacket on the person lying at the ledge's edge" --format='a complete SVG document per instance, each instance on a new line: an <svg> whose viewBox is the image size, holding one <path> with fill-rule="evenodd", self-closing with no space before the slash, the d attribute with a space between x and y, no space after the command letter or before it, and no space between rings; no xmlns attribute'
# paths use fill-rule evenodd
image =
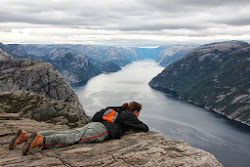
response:
<svg viewBox="0 0 250 167"><path fill-rule="evenodd" d="M102 119L103 113L108 109L117 111L118 117L115 122L107 122ZM109 131L109 138L119 139L125 131L148 132L148 126L141 122L131 111L123 110L122 107L107 107L97 112L92 118L92 122L103 123Z"/></svg>

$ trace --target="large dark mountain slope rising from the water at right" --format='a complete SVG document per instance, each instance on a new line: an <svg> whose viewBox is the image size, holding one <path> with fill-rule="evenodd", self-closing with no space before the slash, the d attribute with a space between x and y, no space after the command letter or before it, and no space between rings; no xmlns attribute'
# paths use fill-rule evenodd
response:
<svg viewBox="0 0 250 167"><path fill-rule="evenodd" d="M212 43L186 54L149 85L250 125L249 44Z"/></svg>

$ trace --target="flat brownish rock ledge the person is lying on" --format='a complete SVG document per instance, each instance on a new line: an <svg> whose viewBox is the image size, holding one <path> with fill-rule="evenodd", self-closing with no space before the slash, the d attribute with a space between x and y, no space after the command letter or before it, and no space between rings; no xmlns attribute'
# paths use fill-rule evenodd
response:
<svg viewBox="0 0 250 167"><path fill-rule="evenodd" d="M18 114L0 113L0 166L185 166L221 167L215 157L187 143L164 138L156 132L126 134L120 140L77 144L57 149L32 150L22 155L22 145L8 150L10 140L18 129L28 132L46 129L63 130L67 126L53 125Z"/></svg>

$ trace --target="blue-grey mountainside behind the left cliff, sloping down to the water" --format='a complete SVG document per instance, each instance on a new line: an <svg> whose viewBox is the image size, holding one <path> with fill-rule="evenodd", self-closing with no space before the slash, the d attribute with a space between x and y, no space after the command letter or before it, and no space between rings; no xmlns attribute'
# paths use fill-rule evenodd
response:
<svg viewBox="0 0 250 167"><path fill-rule="evenodd" d="M35 58L50 62L70 84L85 83L101 73L85 55L54 45L1 45L14 58Z"/></svg>

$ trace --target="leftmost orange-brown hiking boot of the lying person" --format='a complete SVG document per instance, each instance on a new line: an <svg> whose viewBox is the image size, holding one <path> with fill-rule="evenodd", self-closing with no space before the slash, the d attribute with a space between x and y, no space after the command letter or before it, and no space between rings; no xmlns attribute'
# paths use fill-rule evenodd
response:
<svg viewBox="0 0 250 167"><path fill-rule="evenodd" d="M29 133L24 130L19 130L17 135L11 140L9 150L13 150L18 144L27 141Z"/></svg>

